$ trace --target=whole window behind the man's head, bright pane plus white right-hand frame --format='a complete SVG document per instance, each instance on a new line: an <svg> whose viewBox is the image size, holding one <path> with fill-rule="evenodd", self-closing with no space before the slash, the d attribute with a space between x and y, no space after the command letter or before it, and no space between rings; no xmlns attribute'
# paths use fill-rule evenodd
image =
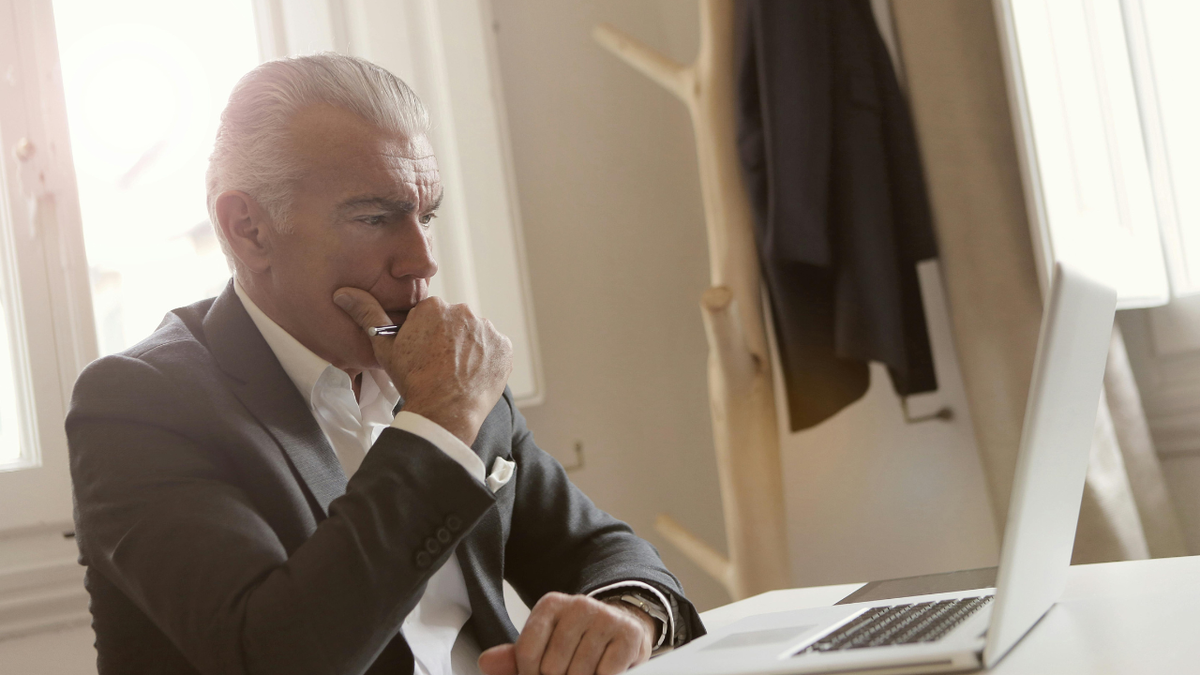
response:
<svg viewBox="0 0 1200 675"><path fill-rule="evenodd" d="M432 141L449 190L431 289L512 338L514 393L535 402L540 374L502 106L486 82L496 77L490 23L480 5L455 5L364 0L344 12L312 0L54 0L100 353L221 292L229 273L204 203L220 112L260 55L331 49L400 74L437 120ZM449 12L455 20L443 19Z"/></svg>

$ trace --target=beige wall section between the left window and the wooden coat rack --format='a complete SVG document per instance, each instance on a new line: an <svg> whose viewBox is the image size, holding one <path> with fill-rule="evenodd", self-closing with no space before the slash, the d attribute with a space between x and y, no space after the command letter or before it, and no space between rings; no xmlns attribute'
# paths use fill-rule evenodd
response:
<svg viewBox="0 0 1200 675"><path fill-rule="evenodd" d="M694 2L493 2L545 404L539 444L660 545L701 607L720 586L662 545L670 510L724 548L700 294L707 244L683 106L592 42L600 22L686 58Z"/></svg>

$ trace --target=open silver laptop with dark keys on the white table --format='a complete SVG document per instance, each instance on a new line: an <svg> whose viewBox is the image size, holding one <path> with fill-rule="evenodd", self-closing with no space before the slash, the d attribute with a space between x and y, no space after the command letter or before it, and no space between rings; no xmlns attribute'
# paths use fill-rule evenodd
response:
<svg viewBox="0 0 1200 675"><path fill-rule="evenodd" d="M1066 585L1115 310L1111 288L1055 265L995 590L750 616L631 673L899 675L995 665Z"/></svg>

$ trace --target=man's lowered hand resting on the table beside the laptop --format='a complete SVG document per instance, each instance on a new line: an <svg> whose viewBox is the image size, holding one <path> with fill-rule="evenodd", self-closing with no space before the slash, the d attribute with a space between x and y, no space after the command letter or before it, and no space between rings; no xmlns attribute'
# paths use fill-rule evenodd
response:
<svg viewBox="0 0 1200 675"><path fill-rule="evenodd" d="M587 596L546 593L515 645L479 657L485 675L617 675L644 663L658 626L644 611Z"/></svg>

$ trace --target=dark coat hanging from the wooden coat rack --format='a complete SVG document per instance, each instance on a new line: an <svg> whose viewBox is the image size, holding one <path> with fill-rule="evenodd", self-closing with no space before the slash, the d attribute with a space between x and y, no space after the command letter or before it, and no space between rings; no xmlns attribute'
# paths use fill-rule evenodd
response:
<svg viewBox="0 0 1200 675"><path fill-rule="evenodd" d="M917 263L937 255L908 108L866 0L742 0L738 150L792 430L937 388Z"/></svg>

